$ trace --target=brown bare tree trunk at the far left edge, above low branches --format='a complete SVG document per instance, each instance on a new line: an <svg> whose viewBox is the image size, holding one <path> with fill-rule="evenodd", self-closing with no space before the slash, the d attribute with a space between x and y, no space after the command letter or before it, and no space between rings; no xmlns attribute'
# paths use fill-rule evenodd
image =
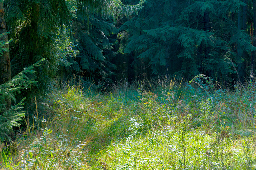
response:
<svg viewBox="0 0 256 170"><path fill-rule="evenodd" d="M0 0L0 34L6 33L5 13L4 13L4 1ZM0 37L0 41L8 42L7 35ZM3 84L11 79L11 67L10 67L10 55L9 45L6 43L3 51L3 55L0 56L0 84Z"/></svg>

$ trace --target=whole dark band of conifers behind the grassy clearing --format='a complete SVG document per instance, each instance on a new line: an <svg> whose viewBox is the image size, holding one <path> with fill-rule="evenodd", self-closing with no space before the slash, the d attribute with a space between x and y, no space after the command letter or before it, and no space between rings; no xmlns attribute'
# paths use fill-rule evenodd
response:
<svg viewBox="0 0 256 170"><path fill-rule="evenodd" d="M88 2L5 1L12 76L41 58L39 89L73 74L105 84L204 74L226 85L253 76L255 1L126 0L116 16L104 1Z"/></svg>

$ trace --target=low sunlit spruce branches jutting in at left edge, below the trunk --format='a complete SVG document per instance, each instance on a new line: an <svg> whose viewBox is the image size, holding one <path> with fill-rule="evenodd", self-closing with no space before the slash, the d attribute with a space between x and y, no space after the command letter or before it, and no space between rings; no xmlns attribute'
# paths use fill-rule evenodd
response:
<svg viewBox="0 0 256 170"><path fill-rule="evenodd" d="M43 60L44 59L41 59L30 67L25 68L10 81L0 85L0 141L9 138L8 134L13 131L13 127L20 125L18 121L24 117L25 113L23 110L25 98L19 103L16 103L16 95L37 83L37 81L30 76L35 73L33 69L40 66ZM7 104L10 101L12 101L13 104L10 109L7 109Z"/></svg>

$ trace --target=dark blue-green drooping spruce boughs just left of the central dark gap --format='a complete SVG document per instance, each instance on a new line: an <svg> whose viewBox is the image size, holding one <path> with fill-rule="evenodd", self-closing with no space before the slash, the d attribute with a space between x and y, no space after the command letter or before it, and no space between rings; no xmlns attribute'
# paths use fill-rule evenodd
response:
<svg viewBox="0 0 256 170"><path fill-rule="evenodd" d="M85 21L84 21L85 20ZM90 25L87 26L88 22ZM117 33L117 29L113 23L108 23L90 16L87 19L81 14L73 20L72 27L74 35L74 44L79 51L76 58L71 60L77 62L79 69L75 71L83 71L85 78L94 78L96 82L107 80L113 73L115 66L110 63L110 57L115 54L111 51L114 40L110 39L111 34Z"/></svg>

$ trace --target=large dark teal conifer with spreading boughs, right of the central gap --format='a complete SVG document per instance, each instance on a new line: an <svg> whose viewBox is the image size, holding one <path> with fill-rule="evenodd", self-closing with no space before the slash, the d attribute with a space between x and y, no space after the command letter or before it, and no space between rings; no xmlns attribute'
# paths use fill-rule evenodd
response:
<svg viewBox="0 0 256 170"><path fill-rule="evenodd" d="M192 78L203 73L224 83L236 78L238 70L239 77L246 77L247 70L239 63L246 63L256 50L247 33L248 5L243 1L149 0L138 16L120 28L120 37L128 40L120 50L134 55L133 65L150 67L153 75L168 70L176 77ZM242 28L237 27L239 11Z"/></svg>

